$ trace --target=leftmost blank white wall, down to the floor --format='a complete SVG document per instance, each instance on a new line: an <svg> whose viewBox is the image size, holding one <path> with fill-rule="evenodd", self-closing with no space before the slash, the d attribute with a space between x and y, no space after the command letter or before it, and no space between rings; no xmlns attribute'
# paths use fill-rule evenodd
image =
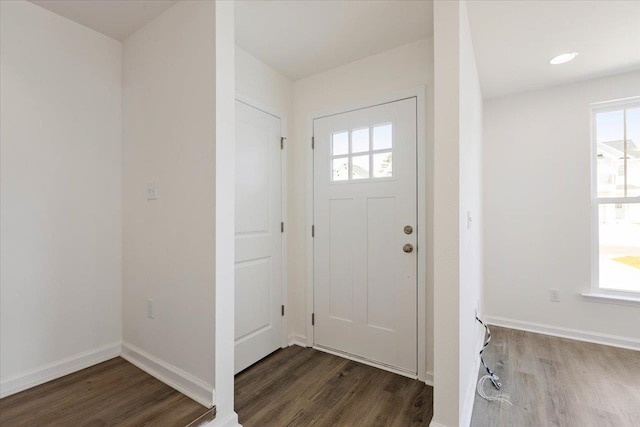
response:
<svg viewBox="0 0 640 427"><path fill-rule="evenodd" d="M0 8L4 396L119 352L121 44Z"/></svg>

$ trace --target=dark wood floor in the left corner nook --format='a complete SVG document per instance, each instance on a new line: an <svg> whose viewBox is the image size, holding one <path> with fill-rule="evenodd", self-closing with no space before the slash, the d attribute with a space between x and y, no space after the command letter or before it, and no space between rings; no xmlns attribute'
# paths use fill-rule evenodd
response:
<svg viewBox="0 0 640 427"><path fill-rule="evenodd" d="M208 412L117 357L0 399L0 426L184 427Z"/></svg>

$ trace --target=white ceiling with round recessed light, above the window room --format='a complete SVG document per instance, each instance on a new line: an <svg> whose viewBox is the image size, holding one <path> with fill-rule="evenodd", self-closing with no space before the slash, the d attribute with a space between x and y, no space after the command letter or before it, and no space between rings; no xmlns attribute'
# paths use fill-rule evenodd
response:
<svg viewBox="0 0 640 427"><path fill-rule="evenodd" d="M475 0L467 9L485 98L640 70L640 1ZM548 63L573 51L569 63Z"/></svg>

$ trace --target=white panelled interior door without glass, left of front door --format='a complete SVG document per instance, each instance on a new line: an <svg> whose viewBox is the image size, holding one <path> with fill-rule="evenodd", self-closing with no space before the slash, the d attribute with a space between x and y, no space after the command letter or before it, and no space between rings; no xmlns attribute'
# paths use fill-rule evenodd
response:
<svg viewBox="0 0 640 427"><path fill-rule="evenodd" d="M281 347L281 132L236 101L235 373Z"/></svg>

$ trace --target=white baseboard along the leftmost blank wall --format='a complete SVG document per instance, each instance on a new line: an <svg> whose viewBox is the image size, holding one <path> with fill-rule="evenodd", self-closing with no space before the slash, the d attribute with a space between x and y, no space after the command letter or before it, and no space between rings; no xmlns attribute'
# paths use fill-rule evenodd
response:
<svg viewBox="0 0 640 427"><path fill-rule="evenodd" d="M94 348L0 382L0 399L120 355L120 343Z"/></svg>

